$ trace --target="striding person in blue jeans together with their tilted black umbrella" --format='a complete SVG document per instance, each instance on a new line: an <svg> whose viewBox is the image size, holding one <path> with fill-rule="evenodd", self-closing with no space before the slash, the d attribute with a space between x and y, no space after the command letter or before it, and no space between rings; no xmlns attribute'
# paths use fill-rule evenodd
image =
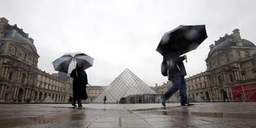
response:
<svg viewBox="0 0 256 128"><path fill-rule="evenodd" d="M161 104L165 107L166 100L179 90L181 95L181 106L192 106L187 103L187 75L183 61L187 56L182 54L196 49L203 40L207 38L205 25L180 25L179 27L164 33L156 51L163 55L161 73L168 76L173 86L161 96Z"/></svg>

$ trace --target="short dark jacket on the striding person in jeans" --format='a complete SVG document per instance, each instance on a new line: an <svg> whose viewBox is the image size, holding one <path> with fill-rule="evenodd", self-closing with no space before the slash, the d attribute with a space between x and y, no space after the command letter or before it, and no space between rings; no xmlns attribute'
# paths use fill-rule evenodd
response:
<svg viewBox="0 0 256 128"><path fill-rule="evenodd" d="M186 76L187 72L184 66L184 57L179 57L181 53L179 51L173 50L166 54L166 63L168 64L168 80L173 79L177 76Z"/></svg>

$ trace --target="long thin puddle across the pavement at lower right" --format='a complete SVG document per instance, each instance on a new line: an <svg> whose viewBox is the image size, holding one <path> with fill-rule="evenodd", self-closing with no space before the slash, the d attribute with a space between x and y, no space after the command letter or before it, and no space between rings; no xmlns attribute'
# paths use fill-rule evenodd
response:
<svg viewBox="0 0 256 128"><path fill-rule="evenodd" d="M256 114L243 113L205 113L189 111L160 111L157 112L165 116L197 116L197 117L216 117L216 118L238 118L238 119L256 119Z"/></svg>

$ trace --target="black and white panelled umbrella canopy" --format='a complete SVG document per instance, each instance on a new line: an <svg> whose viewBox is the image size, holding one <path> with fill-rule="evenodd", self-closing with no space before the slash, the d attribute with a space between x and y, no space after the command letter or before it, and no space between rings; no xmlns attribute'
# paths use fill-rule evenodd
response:
<svg viewBox="0 0 256 128"><path fill-rule="evenodd" d="M70 64L74 62L74 64ZM75 62L83 63L83 70L93 66L93 58L84 53L66 53L53 61L54 70L70 73L75 68Z"/></svg>

